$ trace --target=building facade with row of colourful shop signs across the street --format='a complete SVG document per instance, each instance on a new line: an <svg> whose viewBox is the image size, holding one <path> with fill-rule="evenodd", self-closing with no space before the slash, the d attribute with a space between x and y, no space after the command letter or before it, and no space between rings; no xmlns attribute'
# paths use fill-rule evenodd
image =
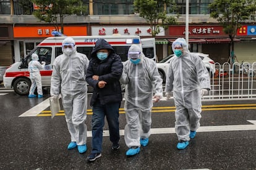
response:
<svg viewBox="0 0 256 170"><path fill-rule="evenodd" d="M190 1L189 46L192 52L209 54L215 62L224 63L229 58L230 39L223 33L219 23L210 18L207 6L212 0ZM137 34L142 38L151 37L147 21L134 14L133 1L83 1L88 15L69 15L64 18L64 34L111 35ZM172 54L171 43L178 37L185 38L186 0L177 0L180 17L177 25L161 28L156 35L158 60ZM10 65L28 54L39 42L55 30L54 26L41 22L32 14L34 6L25 0L0 1L0 65ZM168 9L166 10L168 11ZM168 14L173 15L173 14ZM239 62L256 61L256 25L252 20L237 30L235 54Z"/></svg>

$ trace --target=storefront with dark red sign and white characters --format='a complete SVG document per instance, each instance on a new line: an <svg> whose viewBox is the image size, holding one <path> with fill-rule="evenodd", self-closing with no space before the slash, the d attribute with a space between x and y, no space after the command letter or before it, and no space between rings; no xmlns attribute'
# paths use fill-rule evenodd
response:
<svg viewBox="0 0 256 170"><path fill-rule="evenodd" d="M185 38L185 25L169 26L170 42L177 37ZM175 37L175 39L174 39ZM223 27L218 25L189 25L189 49L191 52L209 54L215 62L224 63L229 58L229 42ZM171 48L171 47L169 47ZM169 49L171 51L171 49Z"/></svg>

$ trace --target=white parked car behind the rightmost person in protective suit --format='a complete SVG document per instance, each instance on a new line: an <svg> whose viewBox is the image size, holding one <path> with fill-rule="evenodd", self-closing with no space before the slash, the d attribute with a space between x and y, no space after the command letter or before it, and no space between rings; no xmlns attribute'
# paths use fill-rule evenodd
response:
<svg viewBox="0 0 256 170"><path fill-rule="evenodd" d="M207 70L209 71L210 75L213 75L215 73L215 62L209 58L209 54L203 54L201 52L191 52L192 54L197 54L202 60L203 63L205 63L205 67L207 67ZM163 82L165 82L167 70L169 67L169 62L171 60L171 57L173 57L174 54L169 55L168 57L165 57L160 62L156 63L156 67L158 68L158 72L163 79Z"/></svg>

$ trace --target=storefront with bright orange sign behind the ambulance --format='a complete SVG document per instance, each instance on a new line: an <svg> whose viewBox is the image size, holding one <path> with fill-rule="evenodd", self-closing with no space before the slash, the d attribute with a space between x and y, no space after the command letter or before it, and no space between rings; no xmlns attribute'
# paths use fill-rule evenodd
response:
<svg viewBox="0 0 256 170"><path fill-rule="evenodd" d="M20 61L43 39L53 36L54 26L14 26L14 58ZM64 34L67 36L87 35L87 26L64 26Z"/></svg>

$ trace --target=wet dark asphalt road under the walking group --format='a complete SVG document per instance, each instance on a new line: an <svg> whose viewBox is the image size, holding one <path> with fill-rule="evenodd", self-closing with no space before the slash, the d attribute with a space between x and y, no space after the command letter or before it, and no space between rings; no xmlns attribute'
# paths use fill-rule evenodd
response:
<svg viewBox="0 0 256 170"><path fill-rule="evenodd" d="M159 108L152 113L151 127L161 132L151 134L148 146L142 147L139 155L126 156L124 136L121 136L120 149L111 150L109 137L105 136L101 158L87 163L92 137L87 138L85 154L76 148L67 150L70 136L64 116L19 117L48 99L46 93L43 99L28 99L0 89L0 94L4 94L0 95L0 169L256 169L256 130L253 129L256 124L247 121L256 120L256 106L234 106L255 104L255 100L203 102L203 106L211 109L203 110L202 132L197 133L185 150L177 150L176 134L161 133L163 128L174 127L174 111L165 108L173 107L173 100L155 103L154 107L165 110ZM215 109L217 107L219 109ZM92 130L91 118L92 115L87 116L88 131ZM121 113L119 119L122 130L126 124L125 114ZM252 129L244 129L247 125Z"/></svg>

